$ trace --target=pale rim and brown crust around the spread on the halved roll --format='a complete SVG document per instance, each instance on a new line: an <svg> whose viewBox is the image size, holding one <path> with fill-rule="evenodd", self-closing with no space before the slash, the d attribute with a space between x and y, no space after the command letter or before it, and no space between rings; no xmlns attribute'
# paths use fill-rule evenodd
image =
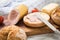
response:
<svg viewBox="0 0 60 40"><path fill-rule="evenodd" d="M35 12L35 13L31 13L31 14L38 14L38 13L46 14L46 13L42 13L42 12ZM26 16L23 18L23 21L24 21L24 23L25 23L27 26L29 26L29 27L42 27L42 26L45 25L45 24L44 24L43 22L41 22L41 21L39 21L39 22L31 22L31 21L29 21L29 20L27 19L27 16L29 16L29 15L31 15L31 14L28 14L28 15L26 15ZM46 14L46 15L48 15L48 14ZM48 19L47 19L47 20L50 20L49 15L48 15Z"/></svg>

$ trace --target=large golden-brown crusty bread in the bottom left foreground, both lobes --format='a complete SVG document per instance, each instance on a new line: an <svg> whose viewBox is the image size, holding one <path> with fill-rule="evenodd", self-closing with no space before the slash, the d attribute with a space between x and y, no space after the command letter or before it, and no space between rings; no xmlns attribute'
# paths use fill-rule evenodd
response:
<svg viewBox="0 0 60 40"><path fill-rule="evenodd" d="M0 40L26 40L24 30L18 26L6 26L0 30Z"/></svg>

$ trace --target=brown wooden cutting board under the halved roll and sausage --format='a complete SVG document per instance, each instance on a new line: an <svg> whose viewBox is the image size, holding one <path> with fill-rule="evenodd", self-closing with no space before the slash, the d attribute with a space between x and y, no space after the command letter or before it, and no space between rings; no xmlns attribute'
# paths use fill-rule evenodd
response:
<svg viewBox="0 0 60 40"><path fill-rule="evenodd" d="M5 17L5 20L7 18L7 15L4 15ZM51 23L57 28L57 29L60 29L59 26L55 25L52 21ZM31 35L37 35L37 34L45 34L45 33L52 33L53 31L48 27L48 26L43 26L43 27L40 27L40 28L30 28L28 26L26 26L23 21L19 21L18 24L16 24L17 26L19 26L20 28L22 28L26 34L28 36L31 36ZM1 25L2 26L5 26L5 25Z"/></svg>

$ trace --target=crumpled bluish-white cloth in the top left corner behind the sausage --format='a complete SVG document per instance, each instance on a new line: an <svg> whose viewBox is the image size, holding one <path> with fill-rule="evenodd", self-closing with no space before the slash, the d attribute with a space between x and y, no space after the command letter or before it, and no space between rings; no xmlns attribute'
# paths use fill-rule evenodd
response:
<svg viewBox="0 0 60 40"><path fill-rule="evenodd" d="M0 15L8 14L15 5L23 1L24 0L0 0Z"/></svg>

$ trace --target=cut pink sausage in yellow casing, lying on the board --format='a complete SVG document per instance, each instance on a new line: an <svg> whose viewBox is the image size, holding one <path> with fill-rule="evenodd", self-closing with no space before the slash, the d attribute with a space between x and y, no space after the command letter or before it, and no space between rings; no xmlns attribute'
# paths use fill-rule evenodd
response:
<svg viewBox="0 0 60 40"><path fill-rule="evenodd" d="M24 4L21 4L15 7L8 15L8 21L11 25L18 23L24 15L28 13L28 7Z"/></svg>

